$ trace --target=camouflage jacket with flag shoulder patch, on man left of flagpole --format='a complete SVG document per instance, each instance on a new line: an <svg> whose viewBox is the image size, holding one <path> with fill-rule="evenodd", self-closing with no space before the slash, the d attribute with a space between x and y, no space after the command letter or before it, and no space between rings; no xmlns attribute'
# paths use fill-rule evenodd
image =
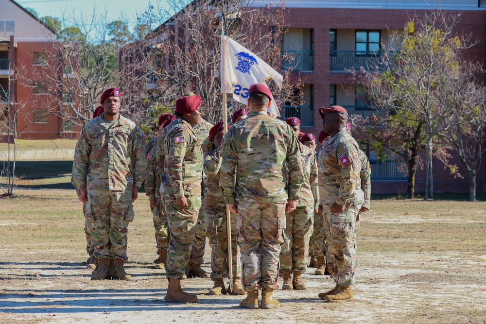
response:
<svg viewBox="0 0 486 324"><path fill-rule="evenodd" d="M164 169L170 185L165 193L175 198L200 196L203 179L203 152L191 125L176 119L164 138Z"/></svg>

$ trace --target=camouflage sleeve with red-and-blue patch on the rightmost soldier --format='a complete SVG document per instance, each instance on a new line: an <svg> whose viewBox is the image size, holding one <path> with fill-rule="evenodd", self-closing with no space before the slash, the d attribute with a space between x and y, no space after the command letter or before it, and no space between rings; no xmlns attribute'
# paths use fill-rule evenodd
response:
<svg viewBox="0 0 486 324"><path fill-rule="evenodd" d="M353 145L338 145L336 157L341 167L341 186L336 204L346 205L360 180L360 163L358 150Z"/></svg>

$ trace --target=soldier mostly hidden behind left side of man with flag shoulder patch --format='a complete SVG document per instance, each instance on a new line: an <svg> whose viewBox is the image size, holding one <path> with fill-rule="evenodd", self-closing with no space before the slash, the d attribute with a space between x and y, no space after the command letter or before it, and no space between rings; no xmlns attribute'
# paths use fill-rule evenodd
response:
<svg viewBox="0 0 486 324"><path fill-rule="evenodd" d="M158 128L161 131L167 119L174 119L172 114L163 114L158 119ZM147 177L145 178L145 195L149 197L150 208L154 217L155 239L158 257L154 260L156 269L164 269L167 259L167 247L169 246L169 227L165 208L160 198L160 177L156 163L158 137L151 139L145 144L147 154Z"/></svg>

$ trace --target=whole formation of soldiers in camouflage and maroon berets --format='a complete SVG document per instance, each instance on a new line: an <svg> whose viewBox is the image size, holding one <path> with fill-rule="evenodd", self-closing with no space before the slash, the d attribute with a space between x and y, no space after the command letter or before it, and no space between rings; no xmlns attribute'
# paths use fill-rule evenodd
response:
<svg viewBox="0 0 486 324"><path fill-rule="evenodd" d="M103 93L79 136L72 171L92 280L131 279L124 270L128 224L143 185L154 217L155 267L168 278L167 302L196 303L180 282L201 277L213 281L209 294L246 294L240 307L278 307L278 276L282 289L305 290L301 274L309 264L336 283L319 298L352 300L356 232L371 191L367 157L343 107L319 109L322 148L315 153L316 137L300 132L298 118L267 113L271 98L266 85L252 85L248 107L234 112L226 133L223 121L201 118L201 97L187 93L174 115L160 116L158 136L145 143L139 127L120 114L121 91ZM206 237L210 274L201 268ZM233 276L226 287L228 264Z"/></svg>

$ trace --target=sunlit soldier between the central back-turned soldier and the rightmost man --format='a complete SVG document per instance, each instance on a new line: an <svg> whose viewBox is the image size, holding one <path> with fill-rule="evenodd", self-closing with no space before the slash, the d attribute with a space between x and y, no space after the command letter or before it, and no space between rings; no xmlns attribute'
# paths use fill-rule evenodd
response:
<svg viewBox="0 0 486 324"><path fill-rule="evenodd" d="M319 205L317 184L317 162L314 150L303 145L305 141L314 141L313 134L302 136L300 142L301 162L304 171L304 185L297 196L296 209L286 214L287 228L284 230L285 243L280 252L280 273L283 277L283 290L305 290L301 273L307 270L309 242L314 223L314 210ZM291 279L291 271L294 279Z"/></svg>

